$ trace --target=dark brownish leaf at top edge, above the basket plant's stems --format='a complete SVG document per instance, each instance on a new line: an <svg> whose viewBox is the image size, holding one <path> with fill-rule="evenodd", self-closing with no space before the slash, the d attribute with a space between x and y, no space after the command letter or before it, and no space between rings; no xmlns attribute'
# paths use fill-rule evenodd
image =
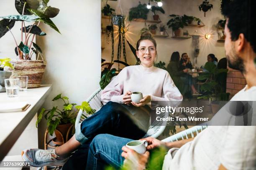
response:
<svg viewBox="0 0 256 170"><path fill-rule="evenodd" d="M18 11L20 15L22 15L23 7L26 2L26 6L24 8L24 15L31 15L28 11L28 8L31 9L37 9L39 7L39 1L38 0L15 0L15 8Z"/></svg>

